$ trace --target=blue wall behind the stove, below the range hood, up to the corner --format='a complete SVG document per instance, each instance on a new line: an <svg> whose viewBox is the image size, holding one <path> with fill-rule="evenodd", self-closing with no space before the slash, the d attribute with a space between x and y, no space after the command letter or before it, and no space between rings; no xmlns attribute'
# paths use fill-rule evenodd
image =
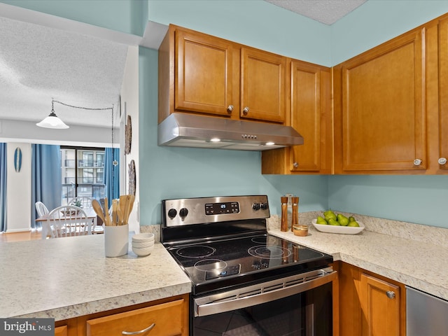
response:
<svg viewBox="0 0 448 336"><path fill-rule="evenodd" d="M158 52L139 51L140 223L160 223L160 200L179 197L267 194L272 214L280 197L295 193L300 209L327 207L327 176L262 176L261 154L157 145Z"/></svg>

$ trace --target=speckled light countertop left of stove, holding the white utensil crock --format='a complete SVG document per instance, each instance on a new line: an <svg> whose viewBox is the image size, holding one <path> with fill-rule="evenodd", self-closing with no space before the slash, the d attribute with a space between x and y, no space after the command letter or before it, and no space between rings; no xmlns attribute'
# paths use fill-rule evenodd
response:
<svg viewBox="0 0 448 336"><path fill-rule="evenodd" d="M151 255L104 256L104 235L0 244L0 317L60 321L190 293L160 243Z"/></svg>

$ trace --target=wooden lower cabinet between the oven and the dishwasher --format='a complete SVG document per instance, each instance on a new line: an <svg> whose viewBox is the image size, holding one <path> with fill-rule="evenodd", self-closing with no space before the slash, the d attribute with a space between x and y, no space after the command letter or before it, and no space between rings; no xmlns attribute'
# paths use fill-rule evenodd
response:
<svg viewBox="0 0 448 336"><path fill-rule="evenodd" d="M405 286L337 262L340 336L405 336Z"/></svg>

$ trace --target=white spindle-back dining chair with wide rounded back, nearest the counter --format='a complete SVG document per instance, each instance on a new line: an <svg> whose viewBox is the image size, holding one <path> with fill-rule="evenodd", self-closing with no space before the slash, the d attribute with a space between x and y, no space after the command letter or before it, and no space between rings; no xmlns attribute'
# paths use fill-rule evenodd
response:
<svg viewBox="0 0 448 336"><path fill-rule="evenodd" d="M52 209L46 223L52 238L92 235L96 224L82 208L73 205Z"/></svg>

